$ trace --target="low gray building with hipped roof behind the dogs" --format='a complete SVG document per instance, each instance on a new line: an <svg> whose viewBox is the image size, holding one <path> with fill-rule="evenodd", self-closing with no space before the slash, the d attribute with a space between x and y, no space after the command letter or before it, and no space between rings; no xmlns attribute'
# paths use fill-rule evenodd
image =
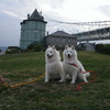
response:
<svg viewBox="0 0 110 110"><path fill-rule="evenodd" d="M64 32L56 31L47 36L45 36L46 45L55 45L59 48L64 48L65 45L74 45L77 46L77 37Z"/></svg>

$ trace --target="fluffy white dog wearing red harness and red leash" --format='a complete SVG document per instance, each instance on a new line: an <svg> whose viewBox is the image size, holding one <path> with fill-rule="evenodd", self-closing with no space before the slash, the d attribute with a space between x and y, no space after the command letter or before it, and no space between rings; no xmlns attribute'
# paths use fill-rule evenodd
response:
<svg viewBox="0 0 110 110"><path fill-rule="evenodd" d="M75 84L76 78L80 78L82 81L87 82L87 76L89 76L89 73L82 74L80 72L86 72L82 67L81 63L77 58L77 52L75 51L75 47L72 45L69 47L68 45L65 46L65 50L63 52L63 67L65 77L67 75L70 76L72 82Z"/></svg>

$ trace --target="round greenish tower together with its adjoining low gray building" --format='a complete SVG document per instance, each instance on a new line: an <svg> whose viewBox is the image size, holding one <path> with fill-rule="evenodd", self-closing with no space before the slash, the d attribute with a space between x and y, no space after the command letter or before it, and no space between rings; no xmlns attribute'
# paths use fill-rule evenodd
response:
<svg viewBox="0 0 110 110"><path fill-rule="evenodd" d="M20 47L26 50L32 43L42 45L55 45L64 48L65 45L77 45L77 38L64 31L56 31L45 36L46 21L44 16L35 9L33 13L28 14L28 19L21 22Z"/></svg>

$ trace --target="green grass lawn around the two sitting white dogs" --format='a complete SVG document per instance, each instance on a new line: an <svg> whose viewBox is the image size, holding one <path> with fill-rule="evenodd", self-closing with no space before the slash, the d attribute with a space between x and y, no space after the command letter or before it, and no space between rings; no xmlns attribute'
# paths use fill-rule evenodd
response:
<svg viewBox="0 0 110 110"><path fill-rule="evenodd" d="M0 110L109 110L110 56L95 52L78 52L87 70L97 73L97 81L84 85L80 91L69 80L36 82L15 88L0 87ZM0 75L14 85L35 79L45 70L44 53L23 53L0 56ZM88 78L92 78L92 75Z"/></svg>

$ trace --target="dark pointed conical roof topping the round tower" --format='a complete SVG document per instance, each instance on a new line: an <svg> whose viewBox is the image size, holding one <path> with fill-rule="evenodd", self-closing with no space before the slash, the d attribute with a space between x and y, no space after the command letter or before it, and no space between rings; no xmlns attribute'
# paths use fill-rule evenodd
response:
<svg viewBox="0 0 110 110"><path fill-rule="evenodd" d="M29 20L44 21L44 18L35 9L34 12L31 14L31 16L29 16Z"/></svg>

